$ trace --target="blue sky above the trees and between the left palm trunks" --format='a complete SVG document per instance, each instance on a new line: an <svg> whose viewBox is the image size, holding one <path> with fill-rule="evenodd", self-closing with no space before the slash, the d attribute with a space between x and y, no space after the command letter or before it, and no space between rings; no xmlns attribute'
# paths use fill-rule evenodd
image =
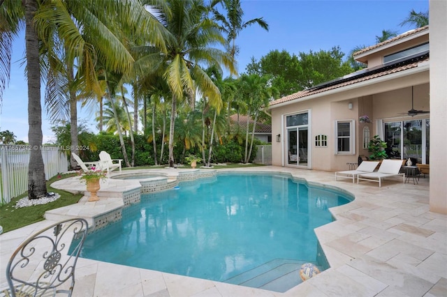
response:
<svg viewBox="0 0 447 297"><path fill-rule="evenodd" d="M428 0L242 0L244 21L263 17L269 31L254 25L241 31L236 39L240 47L237 69L244 73L251 57L259 60L272 50L290 54L328 51L339 46L346 56L359 45L374 45L382 30L404 33L413 29L400 26L414 9L428 10ZM0 107L0 131L10 130L17 140L28 142L27 82L24 77L24 36L15 39L10 82L3 92ZM345 56L345 58L346 58ZM45 87L42 86L44 91ZM42 96L43 100L43 96ZM43 143L55 142L42 102ZM91 132L98 132L91 121L94 113L78 107L78 122L87 121Z"/></svg>

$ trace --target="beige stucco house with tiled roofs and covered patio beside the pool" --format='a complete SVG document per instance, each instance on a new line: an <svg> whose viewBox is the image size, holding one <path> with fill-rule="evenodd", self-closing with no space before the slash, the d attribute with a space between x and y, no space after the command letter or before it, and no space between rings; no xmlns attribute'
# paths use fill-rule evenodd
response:
<svg viewBox="0 0 447 297"><path fill-rule="evenodd" d="M429 33L367 47L354 56L367 68L271 102L272 165L346 170L374 135L390 158L430 164Z"/></svg>

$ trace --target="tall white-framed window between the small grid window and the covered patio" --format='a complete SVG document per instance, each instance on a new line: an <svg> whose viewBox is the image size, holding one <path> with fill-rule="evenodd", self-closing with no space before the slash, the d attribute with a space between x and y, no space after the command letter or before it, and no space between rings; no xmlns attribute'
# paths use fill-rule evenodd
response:
<svg viewBox="0 0 447 297"><path fill-rule="evenodd" d="M335 153L338 155L354 155L356 153L356 133L354 121L335 121Z"/></svg>

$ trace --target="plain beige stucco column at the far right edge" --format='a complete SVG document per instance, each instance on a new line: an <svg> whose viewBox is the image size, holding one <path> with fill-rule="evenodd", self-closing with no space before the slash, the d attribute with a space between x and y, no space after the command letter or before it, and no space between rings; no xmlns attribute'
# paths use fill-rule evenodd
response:
<svg viewBox="0 0 447 297"><path fill-rule="evenodd" d="M430 0L430 211L447 213L447 1Z"/></svg>

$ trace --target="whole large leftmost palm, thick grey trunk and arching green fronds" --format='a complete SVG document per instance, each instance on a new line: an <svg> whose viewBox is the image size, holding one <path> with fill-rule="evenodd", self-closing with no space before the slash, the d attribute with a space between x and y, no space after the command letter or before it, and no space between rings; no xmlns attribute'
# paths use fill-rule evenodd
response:
<svg viewBox="0 0 447 297"><path fill-rule="evenodd" d="M164 48L163 38L159 37L161 25L155 22L154 17L145 10L140 1L2 0L0 7L0 93L3 92L10 75L13 37L17 36L21 24L25 24L28 138L31 147L36 148L31 150L30 154L28 195L29 198L35 199L47 194L43 160L38 148L42 144L41 71L45 74L45 70L49 71L51 67L42 65L41 68L39 50L44 53L47 51L47 56L50 57L58 56L58 51L63 49L63 54L69 58L68 61L78 61L78 67L82 68L80 73L87 77L87 82L95 84L96 58L103 60L108 69L116 71L129 69L133 62L132 56L110 30L112 24L121 24L122 28L129 31L140 32L140 29L142 34L150 31L152 43ZM129 23L133 26L126 26ZM84 38L87 38L87 42ZM54 40L59 43L55 48L53 46L57 43L53 43Z"/></svg>

